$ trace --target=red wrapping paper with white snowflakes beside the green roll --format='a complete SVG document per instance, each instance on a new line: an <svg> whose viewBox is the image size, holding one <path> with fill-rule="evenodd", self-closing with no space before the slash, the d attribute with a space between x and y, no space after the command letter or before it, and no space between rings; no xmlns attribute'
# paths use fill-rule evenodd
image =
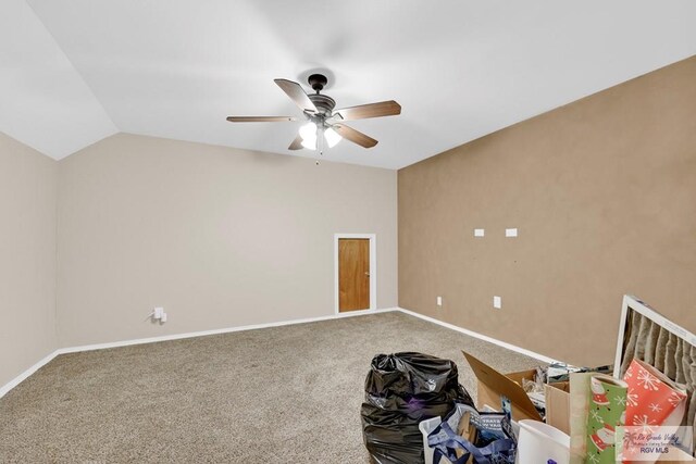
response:
<svg viewBox="0 0 696 464"><path fill-rule="evenodd" d="M669 377L654 366L634 359L623 379L629 386L626 426L639 427L648 436L657 431L658 427L681 424L686 392ZM639 451L641 442L636 444L624 450L624 462L630 462L633 453Z"/></svg>

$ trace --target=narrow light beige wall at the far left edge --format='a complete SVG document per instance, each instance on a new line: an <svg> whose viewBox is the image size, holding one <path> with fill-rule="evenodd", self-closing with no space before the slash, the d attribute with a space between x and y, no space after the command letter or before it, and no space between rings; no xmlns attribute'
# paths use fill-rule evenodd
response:
<svg viewBox="0 0 696 464"><path fill-rule="evenodd" d="M0 133L0 387L55 350L58 163Z"/></svg>

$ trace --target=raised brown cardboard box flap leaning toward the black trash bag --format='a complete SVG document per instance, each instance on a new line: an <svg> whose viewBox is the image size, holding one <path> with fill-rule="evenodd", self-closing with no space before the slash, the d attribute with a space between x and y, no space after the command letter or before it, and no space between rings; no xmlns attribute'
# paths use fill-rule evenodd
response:
<svg viewBox="0 0 696 464"><path fill-rule="evenodd" d="M512 404L512 418L514 421L524 418L542 421L542 416L536 411L536 407L534 407L532 400L530 400L530 397L524 392L521 385L522 378L533 375L533 371L517 373L519 375L508 374L508 376L506 376L465 351L462 351L462 354L467 361L469 361L471 369L478 379L478 409L487 404L495 410L500 410L500 397L506 397Z"/></svg>

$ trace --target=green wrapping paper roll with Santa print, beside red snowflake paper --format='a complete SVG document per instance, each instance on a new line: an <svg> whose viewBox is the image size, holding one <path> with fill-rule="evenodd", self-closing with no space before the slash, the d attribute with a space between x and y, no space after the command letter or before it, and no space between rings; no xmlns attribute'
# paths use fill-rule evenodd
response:
<svg viewBox="0 0 696 464"><path fill-rule="evenodd" d="M585 463L617 462L616 431L625 423L629 386L608 375L589 377L585 428Z"/></svg>

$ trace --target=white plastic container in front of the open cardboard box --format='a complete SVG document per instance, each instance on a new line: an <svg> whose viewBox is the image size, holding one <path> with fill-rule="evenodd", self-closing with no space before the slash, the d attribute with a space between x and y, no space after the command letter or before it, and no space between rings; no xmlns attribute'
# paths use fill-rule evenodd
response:
<svg viewBox="0 0 696 464"><path fill-rule="evenodd" d="M520 421L518 464L558 464L570 462L570 437L556 427L538 421Z"/></svg>

